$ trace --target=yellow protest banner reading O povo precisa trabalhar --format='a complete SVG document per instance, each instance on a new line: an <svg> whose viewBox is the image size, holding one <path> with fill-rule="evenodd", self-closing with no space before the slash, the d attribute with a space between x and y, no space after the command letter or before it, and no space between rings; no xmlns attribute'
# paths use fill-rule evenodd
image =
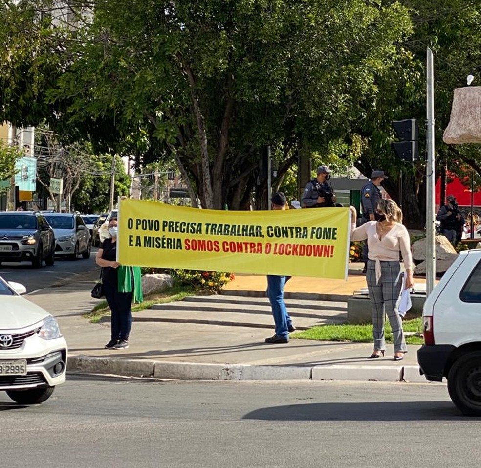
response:
<svg viewBox="0 0 481 468"><path fill-rule="evenodd" d="M345 279L349 208L220 211L121 200L123 265Z"/></svg>

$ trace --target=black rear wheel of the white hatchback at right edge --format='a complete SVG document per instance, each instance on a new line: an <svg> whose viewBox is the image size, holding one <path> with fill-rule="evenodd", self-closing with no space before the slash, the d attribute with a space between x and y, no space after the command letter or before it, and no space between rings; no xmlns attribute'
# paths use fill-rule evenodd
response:
<svg viewBox="0 0 481 468"><path fill-rule="evenodd" d="M481 416L481 351L461 356L448 374L451 400L465 416Z"/></svg>

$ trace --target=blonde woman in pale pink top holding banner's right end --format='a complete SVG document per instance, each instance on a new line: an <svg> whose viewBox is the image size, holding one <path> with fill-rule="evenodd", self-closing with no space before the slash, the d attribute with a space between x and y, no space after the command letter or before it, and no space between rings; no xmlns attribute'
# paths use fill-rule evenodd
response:
<svg viewBox="0 0 481 468"><path fill-rule="evenodd" d="M366 273L369 298L372 304L372 326L374 350L370 359L384 356L384 315L388 316L394 337L394 360L400 361L407 352L407 346L399 316L398 301L403 284L403 273L399 264L402 254L406 270L404 288L412 288L413 258L409 233L402 223L402 212L390 199L378 201L377 221L368 221L356 228L356 212L351 207L351 241L367 239L369 253Z"/></svg>

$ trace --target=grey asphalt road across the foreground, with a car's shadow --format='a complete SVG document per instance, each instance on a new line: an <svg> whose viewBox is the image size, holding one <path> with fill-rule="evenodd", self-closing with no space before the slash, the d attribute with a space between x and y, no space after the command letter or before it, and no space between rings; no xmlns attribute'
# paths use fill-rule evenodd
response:
<svg viewBox="0 0 481 468"><path fill-rule="evenodd" d="M8 467L470 467L479 419L442 384L177 382L69 376L20 407L0 392Z"/></svg>

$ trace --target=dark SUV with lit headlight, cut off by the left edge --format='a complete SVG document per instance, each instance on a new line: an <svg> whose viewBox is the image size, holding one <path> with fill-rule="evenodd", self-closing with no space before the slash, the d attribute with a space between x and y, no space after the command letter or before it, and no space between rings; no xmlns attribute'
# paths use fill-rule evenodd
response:
<svg viewBox="0 0 481 468"><path fill-rule="evenodd" d="M41 268L43 261L53 265L55 236L53 229L38 211L0 212L1 262L32 262Z"/></svg>

